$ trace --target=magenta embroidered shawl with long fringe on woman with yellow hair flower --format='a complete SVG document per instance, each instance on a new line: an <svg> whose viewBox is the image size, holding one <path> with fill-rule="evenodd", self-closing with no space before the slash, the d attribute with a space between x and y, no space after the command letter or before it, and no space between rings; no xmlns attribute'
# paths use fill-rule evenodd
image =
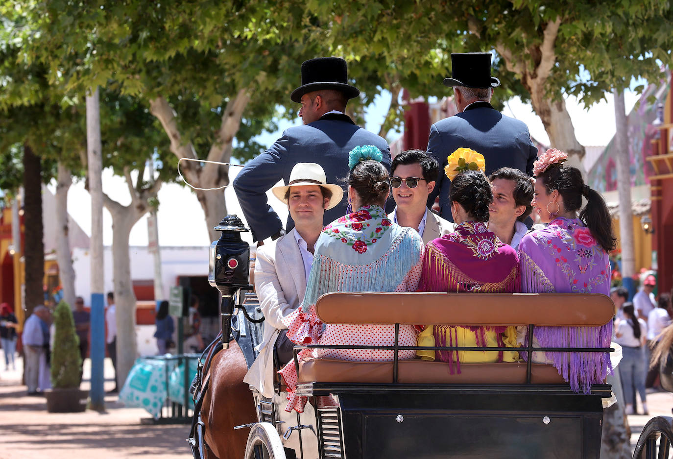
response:
<svg viewBox="0 0 673 459"><path fill-rule="evenodd" d="M484 223L466 221L425 247L419 291L511 293L519 287L518 264L516 251L489 232ZM480 347L487 346L487 332L497 333L499 345L505 346L501 334L507 327L463 328L474 332L476 345ZM435 326L433 330L437 346L457 342L456 327ZM441 361L450 363L452 374L454 362L460 373L458 351L437 351L437 355ZM498 359L501 361L502 351Z"/></svg>

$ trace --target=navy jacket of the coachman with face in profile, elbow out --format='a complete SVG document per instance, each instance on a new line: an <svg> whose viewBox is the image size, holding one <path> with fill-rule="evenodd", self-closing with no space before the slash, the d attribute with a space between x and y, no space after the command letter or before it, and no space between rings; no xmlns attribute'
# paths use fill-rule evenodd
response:
<svg viewBox="0 0 673 459"><path fill-rule="evenodd" d="M345 188L348 153L358 145L374 145L383 152L383 164L390 170L390 147L382 137L356 126L343 114L325 114L308 125L295 126L283 132L267 151L250 161L234 180L234 190L243 209L254 240L264 240L280 231L283 223L267 201L267 190L283 179L287 185L290 172L297 163L318 163L328 183ZM344 196L341 203L325 212L324 224L346 214ZM286 230L294 227L287 217Z"/></svg>

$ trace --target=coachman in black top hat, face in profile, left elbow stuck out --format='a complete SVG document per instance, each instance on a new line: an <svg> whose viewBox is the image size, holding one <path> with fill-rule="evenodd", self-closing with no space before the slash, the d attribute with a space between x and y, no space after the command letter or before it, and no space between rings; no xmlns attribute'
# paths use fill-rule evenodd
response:
<svg viewBox="0 0 673 459"><path fill-rule="evenodd" d="M314 162L322 166L327 181L338 182L348 175L348 153L358 145L374 145L384 153L383 163L390 170L390 149L386 141L361 127L345 115L349 99L360 94L349 85L346 61L338 57L319 57L302 64L302 85L290 96L302 104L299 116L304 125L291 127L267 151L258 155L234 180L236 196L256 241L285 232L283 223L267 203L266 192L279 180L290 183L295 164ZM334 203L324 213L323 223L345 215L347 203ZM294 227L292 216L287 231Z"/></svg>

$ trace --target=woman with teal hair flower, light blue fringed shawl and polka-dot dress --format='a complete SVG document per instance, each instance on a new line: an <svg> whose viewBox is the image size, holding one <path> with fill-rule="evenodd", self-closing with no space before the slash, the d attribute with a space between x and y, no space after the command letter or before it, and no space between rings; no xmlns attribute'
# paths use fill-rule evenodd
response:
<svg viewBox="0 0 673 459"><path fill-rule="evenodd" d="M371 145L356 147L349 155L348 198L353 212L327 225L315 246L313 266L302 308L283 323L295 343L323 345L390 346L394 325L324 326L316 315L318 298L330 291L415 291L421 274L423 241L415 229L393 223L384 211L390 192L388 170L381 151ZM400 345L415 346L413 326L400 326ZM414 351L399 351L400 359L413 359ZM306 349L300 359L328 357L351 361L388 361L392 351L371 349ZM286 411L302 413L306 397L297 397L294 361L279 372L287 384ZM333 400L321 400L332 404Z"/></svg>

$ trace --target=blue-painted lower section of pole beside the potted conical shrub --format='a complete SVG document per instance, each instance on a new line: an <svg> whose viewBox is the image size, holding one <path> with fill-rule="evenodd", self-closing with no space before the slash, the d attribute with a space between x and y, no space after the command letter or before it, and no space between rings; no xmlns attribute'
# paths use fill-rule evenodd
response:
<svg viewBox="0 0 673 459"><path fill-rule="evenodd" d="M91 294L91 392L90 409L105 410L105 303L103 293Z"/></svg>

